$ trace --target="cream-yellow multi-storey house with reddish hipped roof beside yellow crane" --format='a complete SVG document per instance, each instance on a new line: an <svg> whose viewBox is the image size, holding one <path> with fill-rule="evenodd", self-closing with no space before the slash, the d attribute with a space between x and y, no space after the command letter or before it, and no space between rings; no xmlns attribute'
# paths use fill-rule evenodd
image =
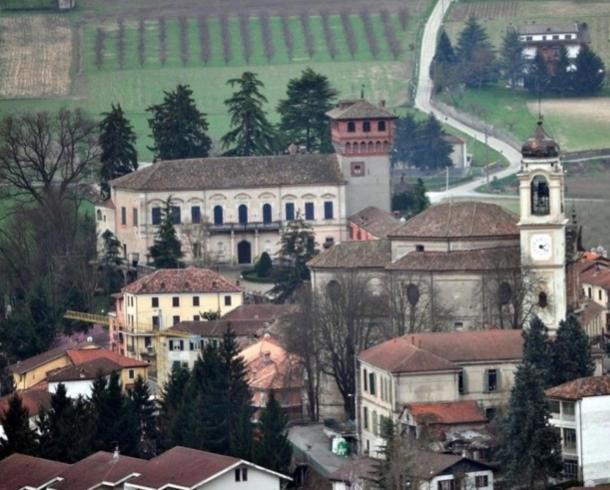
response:
<svg viewBox="0 0 610 490"><path fill-rule="evenodd" d="M159 332L183 321L221 317L241 306L243 293L214 271L187 267L159 269L127 285L115 298L113 349L154 366Z"/></svg>

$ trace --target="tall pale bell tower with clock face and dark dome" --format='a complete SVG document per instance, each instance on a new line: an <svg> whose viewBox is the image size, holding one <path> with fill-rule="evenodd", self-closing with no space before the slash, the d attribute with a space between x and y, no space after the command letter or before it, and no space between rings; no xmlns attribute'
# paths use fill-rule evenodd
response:
<svg viewBox="0 0 610 490"><path fill-rule="evenodd" d="M519 178L521 266L528 278L532 313L553 333L566 316L565 170L559 145L542 120L521 149Z"/></svg>

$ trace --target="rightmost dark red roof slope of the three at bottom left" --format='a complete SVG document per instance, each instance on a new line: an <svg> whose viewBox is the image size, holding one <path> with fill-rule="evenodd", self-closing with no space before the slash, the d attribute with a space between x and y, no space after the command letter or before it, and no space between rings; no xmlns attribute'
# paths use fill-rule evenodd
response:
<svg viewBox="0 0 610 490"><path fill-rule="evenodd" d="M230 456L175 446L151 459L142 476L130 483L151 488L170 483L190 488L240 461Z"/></svg>

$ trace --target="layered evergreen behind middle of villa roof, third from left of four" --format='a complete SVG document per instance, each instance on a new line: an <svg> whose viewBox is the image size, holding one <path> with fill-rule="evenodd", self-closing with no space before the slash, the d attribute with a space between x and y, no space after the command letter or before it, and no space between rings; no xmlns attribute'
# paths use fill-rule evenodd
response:
<svg viewBox="0 0 610 490"><path fill-rule="evenodd" d="M237 91L225 100L227 112L231 116L231 130L221 141L227 148L225 155L251 156L270 155L274 152L275 135L271 123L263 110L267 98L261 94L264 87L256 73L246 71L240 78L227 82Z"/></svg>

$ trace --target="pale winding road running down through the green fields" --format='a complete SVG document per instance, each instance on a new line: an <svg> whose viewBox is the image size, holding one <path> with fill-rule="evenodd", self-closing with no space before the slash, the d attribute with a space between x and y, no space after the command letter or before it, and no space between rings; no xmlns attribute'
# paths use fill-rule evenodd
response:
<svg viewBox="0 0 610 490"><path fill-rule="evenodd" d="M438 109L433 108L430 104L430 97L432 95L430 65L432 64L432 58L434 57L438 31L442 26L445 13L447 12L447 9L451 5L452 1L453 0L438 0L436 6L434 7L434 10L432 11L432 14L430 15L430 18L426 22L420 53L419 78L417 81L417 91L415 93L415 107L420 111L434 114L443 123L460 130L462 133L472 136L473 138L476 138L479 141L485 141L485 135L482 132L473 129L470 126L467 126L462 122L453 119L450 116L445 115ZM494 174L495 177L506 177L508 175L514 174L519 170L521 154L517 149L513 148L511 145L505 143L504 141L494 138L493 136L488 137L487 144L497 152L504 155L509 161L509 166L501 172ZM430 197L430 200L432 202L438 202L443 199L452 197L481 196L481 194L476 193L474 190L477 187L483 185L484 183L485 177L481 177L471 182L467 182L466 184L453 187L448 191L429 192L428 196Z"/></svg>

